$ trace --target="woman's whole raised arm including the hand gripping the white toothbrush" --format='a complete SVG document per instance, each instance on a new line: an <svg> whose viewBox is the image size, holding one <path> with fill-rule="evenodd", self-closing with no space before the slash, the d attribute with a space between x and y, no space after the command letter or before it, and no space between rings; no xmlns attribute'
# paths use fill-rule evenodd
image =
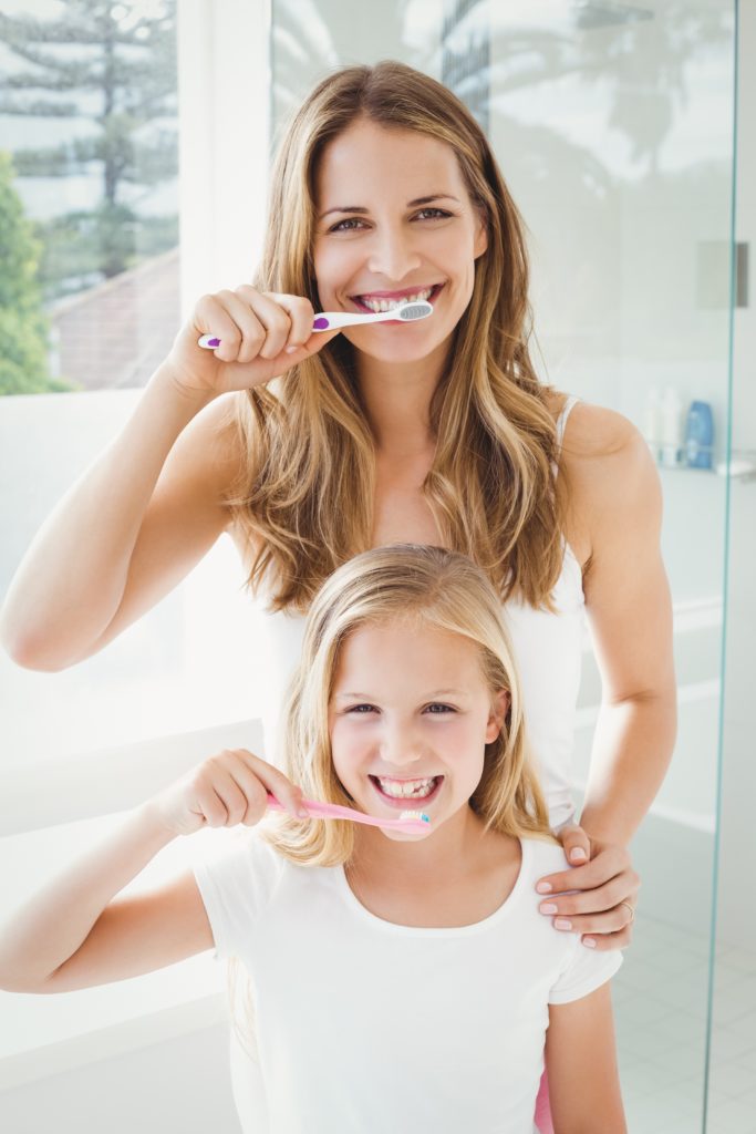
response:
<svg viewBox="0 0 756 1134"><path fill-rule="evenodd" d="M58 670L96 653L210 550L229 525L224 490L241 462L227 399L215 399L271 381L339 333L313 333L313 318L308 299L247 286L197 303L16 573L0 640L18 665ZM207 330L222 337L214 352L197 346Z"/></svg>

